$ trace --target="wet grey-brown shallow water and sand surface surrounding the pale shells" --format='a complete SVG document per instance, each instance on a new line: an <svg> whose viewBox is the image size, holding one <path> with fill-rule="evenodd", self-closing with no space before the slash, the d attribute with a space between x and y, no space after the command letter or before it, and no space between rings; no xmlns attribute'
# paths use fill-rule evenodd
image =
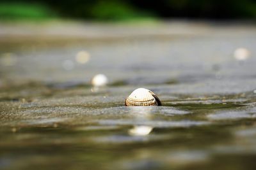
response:
<svg viewBox="0 0 256 170"><path fill-rule="evenodd" d="M83 41L71 31L42 45L35 33L36 43L1 46L0 169L256 168L256 27L74 27ZM88 40L91 29L109 37ZM250 55L237 60L242 47ZM98 73L108 86L90 85ZM138 87L163 106L125 107Z"/></svg>

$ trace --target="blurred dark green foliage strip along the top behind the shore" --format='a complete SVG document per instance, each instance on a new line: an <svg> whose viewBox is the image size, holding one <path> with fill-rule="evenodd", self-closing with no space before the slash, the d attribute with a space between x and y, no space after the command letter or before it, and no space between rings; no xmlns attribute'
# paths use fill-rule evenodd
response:
<svg viewBox="0 0 256 170"><path fill-rule="evenodd" d="M255 0L0 1L1 20L255 19Z"/></svg>

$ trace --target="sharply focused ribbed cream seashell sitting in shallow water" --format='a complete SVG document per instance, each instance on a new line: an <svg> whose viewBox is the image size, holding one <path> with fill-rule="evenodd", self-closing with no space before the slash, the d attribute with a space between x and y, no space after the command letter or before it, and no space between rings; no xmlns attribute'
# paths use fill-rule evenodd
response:
<svg viewBox="0 0 256 170"><path fill-rule="evenodd" d="M161 101L152 91L144 88L134 90L127 99L125 106L161 106Z"/></svg>

